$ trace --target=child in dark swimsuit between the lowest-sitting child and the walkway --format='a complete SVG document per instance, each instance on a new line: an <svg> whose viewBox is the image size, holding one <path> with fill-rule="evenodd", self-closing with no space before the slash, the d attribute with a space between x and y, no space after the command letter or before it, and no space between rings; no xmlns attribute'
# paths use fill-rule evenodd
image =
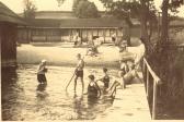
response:
<svg viewBox="0 0 184 122"><path fill-rule="evenodd" d="M106 68L103 68L103 73L104 73L104 76L97 81L101 81L104 83L104 90L106 90L110 86L110 76L107 74L107 69Z"/></svg>

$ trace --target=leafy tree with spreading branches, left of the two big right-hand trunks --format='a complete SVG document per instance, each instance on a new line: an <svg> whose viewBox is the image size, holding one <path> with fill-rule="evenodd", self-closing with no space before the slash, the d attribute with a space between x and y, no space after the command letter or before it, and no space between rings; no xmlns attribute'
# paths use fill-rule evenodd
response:
<svg viewBox="0 0 184 122"><path fill-rule="evenodd" d="M153 0L101 0L110 13L118 19L130 20L138 17L141 25L141 37L145 38L147 51L150 49L150 38L152 35L152 25L157 23L156 7ZM148 27L149 26L149 27ZM149 51L148 51L149 52Z"/></svg>

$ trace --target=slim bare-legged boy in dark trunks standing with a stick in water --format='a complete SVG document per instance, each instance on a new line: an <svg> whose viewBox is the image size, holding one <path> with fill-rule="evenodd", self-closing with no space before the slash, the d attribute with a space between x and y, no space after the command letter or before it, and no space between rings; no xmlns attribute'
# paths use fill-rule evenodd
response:
<svg viewBox="0 0 184 122"><path fill-rule="evenodd" d="M78 64L77 64L76 71L74 71L74 73L76 73L76 77L74 77L74 93L76 93L76 87L77 87L77 81L78 81L78 78L81 80L81 83L82 83L82 93L83 93L83 89L84 89L84 83L83 83L84 61L81 58L80 53L77 54L77 59L78 59Z"/></svg>

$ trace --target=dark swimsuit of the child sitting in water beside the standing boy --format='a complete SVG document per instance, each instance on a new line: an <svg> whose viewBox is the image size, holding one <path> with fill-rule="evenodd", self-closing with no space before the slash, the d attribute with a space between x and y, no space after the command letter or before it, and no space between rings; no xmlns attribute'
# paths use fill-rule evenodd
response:
<svg viewBox="0 0 184 122"><path fill-rule="evenodd" d="M95 98L95 97L97 97L97 88L94 86L94 85L90 85L89 84L89 86L88 86L88 97L93 97L93 98Z"/></svg>

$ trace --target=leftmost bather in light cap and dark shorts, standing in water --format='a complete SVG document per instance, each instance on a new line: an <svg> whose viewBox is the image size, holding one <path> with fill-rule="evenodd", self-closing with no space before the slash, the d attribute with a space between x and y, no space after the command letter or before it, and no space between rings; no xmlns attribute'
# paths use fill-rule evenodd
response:
<svg viewBox="0 0 184 122"><path fill-rule="evenodd" d="M37 69L37 81L41 84L47 84L47 78L45 76L45 73L47 72L46 69L46 60L42 60L39 63L39 66Z"/></svg>

